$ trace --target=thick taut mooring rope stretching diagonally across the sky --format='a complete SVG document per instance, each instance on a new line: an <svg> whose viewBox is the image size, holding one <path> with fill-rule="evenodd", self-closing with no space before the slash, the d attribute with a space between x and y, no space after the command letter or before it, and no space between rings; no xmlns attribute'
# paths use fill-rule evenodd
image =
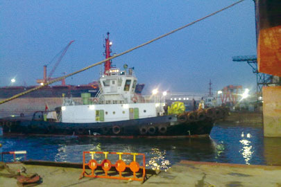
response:
<svg viewBox="0 0 281 187"><path fill-rule="evenodd" d="M62 80L62 79L68 78L68 77L70 77L71 75L76 75L77 73L80 73L80 72L82 72L82 71L86 71L87 69L90 69L90 68L92 68L92 67L94 67L94 66L97 66L97 65L99 65L99 64L102 64L102 63L105 62L105 61L112 60L112 59L114 59L115 57L119 57L119 56L121 56L121 55L125 55L126 53L130 53L131 51L134 51L134 50L137 49L137 48L141 48L142 46L146 46L147 44L151 44L152 42L155 42L156 40L161 39L162 37L167 37L167 35L171 35L172 33L176 33L178 30L182 30L183 28L186 28L186 27L188 27L188 26L191 26L191 25L193 25L193 24L196 24L197 22L202 21L203 19L206 19L207 17L211 17L211 16L213 16L213 15L216 15L217 13L219 13L219 12L221 12L221 11L223 11L223 10L226 10L226 9L232 7L232 6L235 6L235 5L237 5L238 3L241 3L242 1L244 1L244 0L240 0L240 1L237 1L237 2L235 2L235 3L232 3L230 6L226 6L225 8L222 8L221 10L218 10L218 11L216 11L216 12L213 12L213 13L211 13L210 15L206 15L205 17L202 17L201 19L197 19L196 21L193 21L193 22L191 22L191 23L189 23L189 24L186 24L185 26L181 26L180 28L176 28L175 30L171 30L169 33L166 33L166 34L164 34L164 35L161 35L160 37L156 37L155 39L151 39L150 41L145 42L144 44L141 44L141 45L139 45L139 46L135 46L134 48L130 48L130 49L128 49L127 51L124 51L124 52L119 53L119 54L117 54L117 55L114 55L114 56L112 56L112 57L108 57L107 59L101 60L100 62L96 62L95 64L92 64L92 65L87 66L87 67L85 67L85 68L83 68L83 69L80 69L80 70L78 70L78 71L75 71L74 73L69 73L68 75L62 76L62 77L60 77L60 78L56 78L56 79L54 79L54 80L51 80L51 81L49 81L49 82L46 82L46 83L44 83L43 85L40 85L40 86L35 87L35 88L33 88L33 89L28 89L27 91L24 91L24 92L22 92L22 93L16 94L15 96L12 96L12 97L10 97L10 98L7 98L6 100L1 100L1 101L0 101L0 105L3 104L3 103L7 103L7 102L10 101L10 100L14 100L15 98L18 98L18 97L23 96L23 95L25 95L25 94L28 94L28 93L30 93L30 92L32 92L32 91L36 91L37 89L41 89L42 87L46 87L46 86L48 86L49 84L53 84L54 82L58 82L58 81L60 81L60 80Z"/></svg>

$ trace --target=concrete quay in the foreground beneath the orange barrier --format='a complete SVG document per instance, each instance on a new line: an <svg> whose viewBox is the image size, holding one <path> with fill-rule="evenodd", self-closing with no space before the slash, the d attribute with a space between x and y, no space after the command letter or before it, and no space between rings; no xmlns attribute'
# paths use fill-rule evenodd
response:
<svg viewBox="0 0 281 187"><path fill-rule="evenodd" d="M139 181L87 177L78 180L82 168L33 166L23 163L12 163L8 166L13 170L24 166L28 173L36 172L42 177L40 186L281 186L281 166L180 161L167 172L148 174L144 184ZM17 186L16 182L13 178L0 177L0 186Z"/></svg>

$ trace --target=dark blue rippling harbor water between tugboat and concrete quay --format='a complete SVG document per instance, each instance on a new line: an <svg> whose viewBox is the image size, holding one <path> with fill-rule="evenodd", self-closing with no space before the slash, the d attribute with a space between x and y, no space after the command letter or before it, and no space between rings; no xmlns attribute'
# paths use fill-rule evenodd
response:
<svg viewBox="0 0 281 187"><path fill-rule="evenodd" d="M209 137L190 139L0 136L0 143L0 152L26 150L27 159L44 161L82 163L83 151L107 151L145 153L146 166L160 170L180 160L281 166L281 139L263 137L262 125L255 124L220 123ZM12 156L5 155L4 160L12 161Z"/></svg>

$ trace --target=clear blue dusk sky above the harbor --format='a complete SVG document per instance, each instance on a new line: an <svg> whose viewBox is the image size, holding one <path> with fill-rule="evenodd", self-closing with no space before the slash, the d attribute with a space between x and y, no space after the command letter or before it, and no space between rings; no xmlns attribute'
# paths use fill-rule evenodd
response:
<svg viewBox="0 0 281 187"><path fill-rule="evenodd" d="M43 66L74 39L53 77L104 59L110 32L112 52L121 53L224 8L232 0L186 1L4 1L0 2L0 87L35 85ZM146 93L207 92L234 84L255 91L255 74L232 56L256 55L255 5L246 0L168 37L113 60L135 67ZM48 66L51 71L55 62ZM99 79L101 66L67 78L67 84ZM47 73L49 74L49 72Z"/></svg>

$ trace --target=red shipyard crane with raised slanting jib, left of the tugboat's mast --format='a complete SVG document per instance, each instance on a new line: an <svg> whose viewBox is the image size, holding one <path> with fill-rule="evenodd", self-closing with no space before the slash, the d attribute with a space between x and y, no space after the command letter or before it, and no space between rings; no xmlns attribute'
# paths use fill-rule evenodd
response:
<svg viewBox="0 0 281 187"><path fill-rule="evenodd" d="M55 72L56 68L58 67L58 64L60 64L60 61L62 61L62 57L65 56L65 53L67 53L67 49L69 48L69 46L74 42L75 40L71 40L69 42L69 44L67 44L67 46L65 46L65 48L62 49L62 51L60 52L60 57L58 57L58 60L56 62L56 64L53 66L53 69L51 69L48 77L46 76L46 65L44 65L44 77L43 79L37 79L37 83L40 84L44 84L46 82L49 82L50 80L56 79L56 78L51 78L51 76L53 75L53 73ZM62 79L62 85L65 85L65 79Z"/></svg>

